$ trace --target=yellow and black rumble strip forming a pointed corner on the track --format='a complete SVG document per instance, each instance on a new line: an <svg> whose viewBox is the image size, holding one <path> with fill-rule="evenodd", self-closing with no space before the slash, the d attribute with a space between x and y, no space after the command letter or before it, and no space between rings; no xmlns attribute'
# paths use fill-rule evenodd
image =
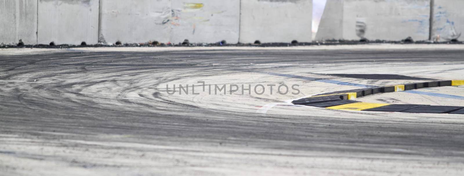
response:
<svg viewBox="0 0 464 176"><path fill-rule="evenodd" d="M395 91L407 91L413 89L457 86L464 85L464 80L444 80L424 83L411 83L404 85L388 85L381 87L370 87L354 89L348 91L335 91L323 93L311 97L294 100L292 103L326 109L338 110L362 110L380 112L408 112L408 113L447 113L464 114L464 107L461 106L431 106L423 104L387 104L387 103L364 103L353 99L378 93L388 93Z"/></svg>

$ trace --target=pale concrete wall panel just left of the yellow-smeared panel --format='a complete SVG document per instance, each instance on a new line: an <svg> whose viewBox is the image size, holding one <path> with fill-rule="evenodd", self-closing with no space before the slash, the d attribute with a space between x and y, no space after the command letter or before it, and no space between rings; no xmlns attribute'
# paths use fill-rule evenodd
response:
<svg viewBox="0 0 464 176"><path fill-rule="evenodd" d="M171 0L101 0L100 42L167 43Z"/></svg>

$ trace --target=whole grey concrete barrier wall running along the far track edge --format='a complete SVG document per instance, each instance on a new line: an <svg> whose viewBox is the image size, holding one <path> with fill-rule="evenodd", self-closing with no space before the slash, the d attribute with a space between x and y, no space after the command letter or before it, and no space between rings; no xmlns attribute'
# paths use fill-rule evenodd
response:
<svg viewBox="0 0 464 176"><path fill-rule="evenodd" d="M316 40L427 40L430 0L328 0ZM464 0L435 0L432 39L462 40ZM311 42L312 0L0 0L0 44Z"/></svg>

